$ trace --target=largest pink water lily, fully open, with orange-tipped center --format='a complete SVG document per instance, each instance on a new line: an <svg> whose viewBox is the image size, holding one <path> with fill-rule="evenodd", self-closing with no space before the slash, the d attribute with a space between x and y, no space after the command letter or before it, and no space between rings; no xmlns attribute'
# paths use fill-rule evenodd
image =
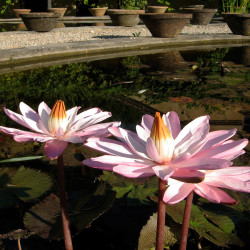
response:
<svg viewBox="0 0 250 250"><path fill-rule="evenodd" d="M102 170L114 171L129 178L156 174L167 181L198 183L205 178L204 171L223 169L244 153L248 141L228 140L236 130L219 130L209 133L209 116L201 116L183 129L175 112L162 117L142 117L136 133L119 128L109 128L118 140L89 139L85 146L106 153L86 159L83 164Z"/></svg>

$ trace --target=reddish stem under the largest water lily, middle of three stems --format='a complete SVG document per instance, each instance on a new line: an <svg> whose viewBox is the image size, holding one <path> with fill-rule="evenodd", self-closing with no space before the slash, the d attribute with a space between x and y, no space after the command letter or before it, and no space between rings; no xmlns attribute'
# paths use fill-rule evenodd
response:
<svg viewBox="0 0 250 250"><path fill-rule="evenodd" d="M163 201L163 196L164 196L165 191L166 191L166 181L159 178L156 250L164 249L166 204Z"/></svg>

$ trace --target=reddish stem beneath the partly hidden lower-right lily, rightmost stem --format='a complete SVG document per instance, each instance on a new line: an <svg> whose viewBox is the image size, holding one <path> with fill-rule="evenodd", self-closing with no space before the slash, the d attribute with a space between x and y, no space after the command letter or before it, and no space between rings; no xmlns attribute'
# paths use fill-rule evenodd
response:
<svg viewBox="0 0 250 250"><path fill-rule="evenodd" d="M194 192L192 191L186 198L179 250L186 250L187 248L188 228L189 228L189 221L190 221L191 210L192 210L193 196L194 196Z"/></svg>

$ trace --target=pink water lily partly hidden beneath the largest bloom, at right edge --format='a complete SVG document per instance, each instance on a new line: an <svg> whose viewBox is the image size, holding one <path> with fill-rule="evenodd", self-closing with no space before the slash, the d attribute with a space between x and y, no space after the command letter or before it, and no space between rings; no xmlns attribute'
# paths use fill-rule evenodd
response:
<svg viewBox="0 0 250 250"><path fill-rule="evenodd" d="M215 203L236 204L237 200L220 188L250 193L250 167L228 167L206 170L205 179L200 183L185 183L172 178L163 201L175 204L185 199L192 191Z"/></svg>

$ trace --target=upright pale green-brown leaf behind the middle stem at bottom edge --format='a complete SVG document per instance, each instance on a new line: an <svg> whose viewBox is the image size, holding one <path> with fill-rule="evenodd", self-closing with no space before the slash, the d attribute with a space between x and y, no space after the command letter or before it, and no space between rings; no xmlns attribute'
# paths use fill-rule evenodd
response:
<svg viewBox="0 0 250 250"><path fill-rule="evenodd" d="M157 213L150 216L147 224L142 228L138 240L138 250L147 250L155 247L156 244ZM179 228L165 226L165 247L173 246L179 238Z"/></svg>

